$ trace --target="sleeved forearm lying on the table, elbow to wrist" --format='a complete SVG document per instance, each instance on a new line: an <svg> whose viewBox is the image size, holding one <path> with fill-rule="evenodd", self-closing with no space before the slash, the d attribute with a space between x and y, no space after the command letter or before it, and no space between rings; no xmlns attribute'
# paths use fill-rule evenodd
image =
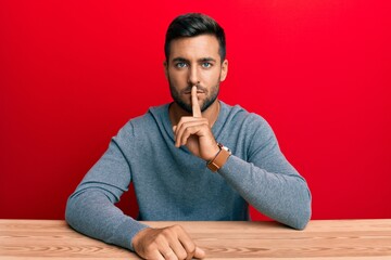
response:
<svg viewBox="0 0 391 260"><path fill-rule="evenodd" d="M147 225L125 216L99 188L73 194L66 205L65 219L76 231L134 250L133 237Z"/></svg>

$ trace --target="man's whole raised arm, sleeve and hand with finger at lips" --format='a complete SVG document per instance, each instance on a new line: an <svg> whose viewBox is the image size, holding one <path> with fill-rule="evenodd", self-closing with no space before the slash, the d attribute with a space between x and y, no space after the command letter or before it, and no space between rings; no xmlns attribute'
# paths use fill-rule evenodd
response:
<svg viewBox="0 0 391 260"><path fill-rule="evenodd" d="M176 146L186 145L209 161L216 155L217 144L207 120L202 118L197 93L192 94L192 106L193 116L182 117L174 127ZM305 180L283 157L267 122L258 116L248 119L243 131L253 132L248 159L231 155L218 172L258 211L294 229L304 229L311 218Z"/></svg>

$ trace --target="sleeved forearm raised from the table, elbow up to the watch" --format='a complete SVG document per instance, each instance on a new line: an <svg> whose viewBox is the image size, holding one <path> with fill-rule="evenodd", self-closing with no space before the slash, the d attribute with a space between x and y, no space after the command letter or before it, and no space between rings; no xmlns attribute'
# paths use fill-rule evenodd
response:
<svg viewBox="0 0 391 260"><path fill-rule="evenodd" d="M230 156L218 171L253 207L294 229L304 229L311 218L311 194L295 172L268 172Z"/></svg>

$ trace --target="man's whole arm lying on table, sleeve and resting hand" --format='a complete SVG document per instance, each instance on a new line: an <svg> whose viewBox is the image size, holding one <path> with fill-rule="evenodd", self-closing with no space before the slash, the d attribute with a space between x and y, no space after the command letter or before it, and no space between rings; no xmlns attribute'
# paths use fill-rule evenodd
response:
<svg viewBox="0 0 391 260"><path fill-rule="evenodd" d="M128 248L142 258L169 259L173 253L180 259L203 258L204 251L182 227L151 229L115 207L131 181L129 164L117 143L135 138L128 132L131 130L119 131L71 195L65 212L67 223L85 235Z"/></svg>

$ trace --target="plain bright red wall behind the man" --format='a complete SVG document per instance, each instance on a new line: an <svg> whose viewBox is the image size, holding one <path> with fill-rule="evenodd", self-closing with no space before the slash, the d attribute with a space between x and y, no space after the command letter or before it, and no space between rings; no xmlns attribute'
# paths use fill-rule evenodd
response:
<svg viewBox="0 0 391 260"><path fill-rule="evenodd" d="M111 136L171 101L164 34L190 11L225 27L220 99L270 122L313 219L391 218L389 2L0 0L0 218L62 219Z"/></svg>

